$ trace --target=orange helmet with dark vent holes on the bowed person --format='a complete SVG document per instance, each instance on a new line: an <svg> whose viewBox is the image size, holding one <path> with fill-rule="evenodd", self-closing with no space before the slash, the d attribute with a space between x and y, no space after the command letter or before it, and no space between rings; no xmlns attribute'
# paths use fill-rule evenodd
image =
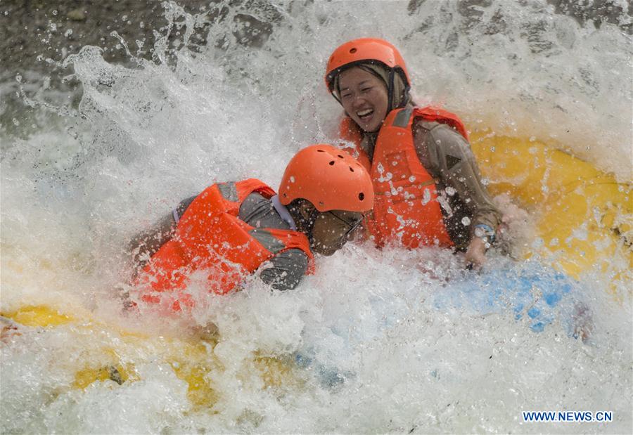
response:
<svg viewBox="0 0 633 435"><path fill-rule="evenodd" d="M367 212L373 208L371 177L347 152L325 143L310 145L290 160L279 186L281 204L298 198L319 212Z"/></svg>

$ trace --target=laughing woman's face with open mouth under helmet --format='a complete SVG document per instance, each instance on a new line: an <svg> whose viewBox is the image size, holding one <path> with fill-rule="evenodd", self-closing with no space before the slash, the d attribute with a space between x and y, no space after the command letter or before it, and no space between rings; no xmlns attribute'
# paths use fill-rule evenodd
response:
<svg viewBox="0 0 633 435"><path fill-rule="evenodd" d="M389 96L385 82L359 67L338 76L340 101L347 115L364 131L378 131L387 116Z"/></svg>

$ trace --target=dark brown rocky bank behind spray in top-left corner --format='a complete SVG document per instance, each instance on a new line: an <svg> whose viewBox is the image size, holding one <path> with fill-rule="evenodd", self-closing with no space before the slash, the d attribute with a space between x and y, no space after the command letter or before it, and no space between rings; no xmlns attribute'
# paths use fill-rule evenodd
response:
<svg viewBox="0 0 633 435"><path fill-rule="evenodd" d="M187 0L181 6L188 13L200 13L209 3ZM110 62L124 62L127 54L110 33L120 34L131 49L136 40L151 47L153 31L167 25L163 12L162 0L3 0L0 81L21 70L51 72L51 62L41 60L60 63L84 45L103 48L103 57Z"/></svg>

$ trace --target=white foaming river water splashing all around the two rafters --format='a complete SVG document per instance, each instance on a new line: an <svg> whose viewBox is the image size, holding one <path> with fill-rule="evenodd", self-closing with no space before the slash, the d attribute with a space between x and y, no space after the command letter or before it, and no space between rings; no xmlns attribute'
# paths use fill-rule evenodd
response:
<svg viewBox="0 0 633 435"><path fill-rule="evenodd" d="M48 305L82 319L23 328L3 344L0 431L631 433L629 284L618 299L607 277L570 281L594 316L583 344L563 314L534 332L511 309L437 304L438 292L479 282L450 253L362 244L319 259L293 292L253 279L193 313L222 338L202 351L221 364L203 370L215 396L192 403L174 369L179 348L164 341L184 327L120 313L127 240L214 181L277 186L296 150L330 141L340 107L326 93L324 65L343 41L392 41L416 101L444 104L471 129L558 143L632 180L633 45L622 26L581 25L536 0L214 7L221 13L203 26L166 4L172 26L156 30L165 38L152 61L134 56L135 41L121 41L125 65L90 46L68 56L65 81L79 94L29 71L0 84L20 100L0 105L13 114L0 131L3 312ZM209 42L193 47L200 29ZM243 44L253 32L264 33ZM488 270L549 273L539 267L493 253ZM113 352L134 365L134 382L69 387L77 370L107 365ZM262 383L255 354L292 373ZM613 421L524 422L530 410L611 411Z"/></svg>

